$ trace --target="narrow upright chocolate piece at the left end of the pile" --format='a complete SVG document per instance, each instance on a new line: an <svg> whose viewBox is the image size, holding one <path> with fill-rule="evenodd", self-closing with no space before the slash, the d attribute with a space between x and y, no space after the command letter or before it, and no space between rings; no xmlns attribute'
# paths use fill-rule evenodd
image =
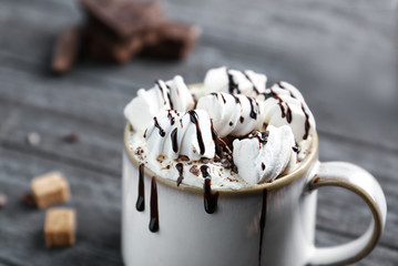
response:
<svg viewBox="0 0 398 266"><path fill-rule="evenodd" d="M54 73L62 74L73 66L79 54L80 39L81 32L76 27L59 35L52 55L51 69Z"/></svg>

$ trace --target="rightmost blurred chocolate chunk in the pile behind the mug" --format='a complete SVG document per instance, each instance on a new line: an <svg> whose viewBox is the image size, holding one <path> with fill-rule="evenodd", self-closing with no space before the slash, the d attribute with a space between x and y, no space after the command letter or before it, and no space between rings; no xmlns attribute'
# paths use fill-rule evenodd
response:
<svg viewBox="0 0 398 266"><path fill-rule="evenodd" d="M142 55L160 59L184 59L194 48L198 29L167 21L157 29L157 42L146 45Z"/></svg>

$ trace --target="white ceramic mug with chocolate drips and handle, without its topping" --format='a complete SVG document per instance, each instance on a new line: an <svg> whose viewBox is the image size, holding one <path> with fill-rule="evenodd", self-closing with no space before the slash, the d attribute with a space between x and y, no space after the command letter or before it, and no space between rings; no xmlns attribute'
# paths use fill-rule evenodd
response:
<svg viewBox="0 0 398 266"><path fill-rule="evenodd" d="M176 186L144 166L140 178L129 130L130 125L124 133L122 211L127 266L341 265L370 253L384 231L387 206L380 185L356 165L320 163L316 134L312 153L295 172L273 183L218 191L217 211L208 214L202 188ZM367 203L373 219L363 236L336 247L314 246L320 186L347 188Z"/></svg>

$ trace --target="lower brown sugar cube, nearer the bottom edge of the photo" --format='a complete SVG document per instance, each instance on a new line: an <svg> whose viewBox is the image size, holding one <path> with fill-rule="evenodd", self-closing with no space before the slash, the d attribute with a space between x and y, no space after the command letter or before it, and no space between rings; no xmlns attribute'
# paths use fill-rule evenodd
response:
<svg viewBox="0 0 398 266"><path fill-rule="evenodd" d="M73 245L76 228L75 224L75 213L72 208L51 208L47 211L44 224L47 246Z"/></svg>

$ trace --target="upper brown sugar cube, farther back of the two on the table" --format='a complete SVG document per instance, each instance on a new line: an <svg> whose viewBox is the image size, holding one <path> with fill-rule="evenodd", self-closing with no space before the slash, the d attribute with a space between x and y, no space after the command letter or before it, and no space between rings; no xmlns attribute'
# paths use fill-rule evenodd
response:
<svg viewBox="0 0 398 266"><path fill-rule="evenodd" d="M31 182L31 188L39 208L67 202L70 197L68 181L59 172L34 177Z"/></svg>

